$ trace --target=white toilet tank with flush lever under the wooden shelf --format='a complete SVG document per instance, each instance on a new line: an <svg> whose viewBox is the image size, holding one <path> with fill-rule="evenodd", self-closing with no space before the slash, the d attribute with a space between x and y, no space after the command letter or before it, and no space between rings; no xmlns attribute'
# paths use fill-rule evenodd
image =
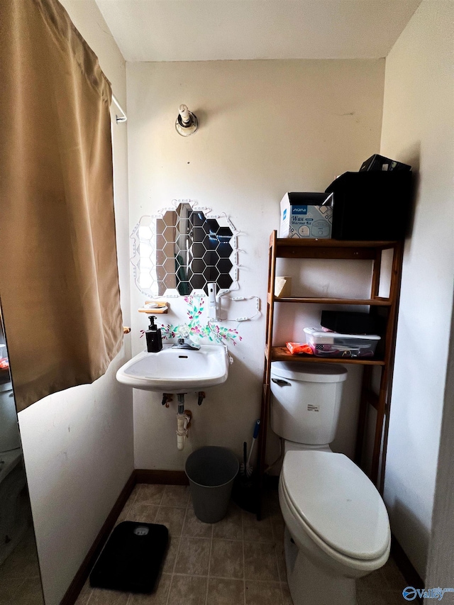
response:
<svg viewBox="0 0 454 605"><path fill-rule="evenodd" d="M346 378L347 370L338 364L272 362L272 430L296 443L331 443Z"/></svg>

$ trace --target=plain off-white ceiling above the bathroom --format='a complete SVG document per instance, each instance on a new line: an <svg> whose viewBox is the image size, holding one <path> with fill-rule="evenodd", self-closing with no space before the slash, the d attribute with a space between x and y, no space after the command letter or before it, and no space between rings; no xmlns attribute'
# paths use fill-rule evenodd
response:
<svg viewBox="0 0 454 605"><path fill-rule="evenodd" d="M96 0L127 61L385 57L421 0Z"/></svg>

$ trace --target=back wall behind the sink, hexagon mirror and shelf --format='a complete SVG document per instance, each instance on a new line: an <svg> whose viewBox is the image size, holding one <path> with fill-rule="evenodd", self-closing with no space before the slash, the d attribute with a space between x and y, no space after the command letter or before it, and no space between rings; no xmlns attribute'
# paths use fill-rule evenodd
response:
<svg viewBox="0 0 454 605"><path fill-rule="evenodd" d="M259 318L224 324L238 328L243 340L230 347L235 362L227 382L207 392L200 408L187 396L194 420L182 453L176 447L175 404L165 409L160 394L134 392L135 466L182 469L200 445L225 445L240 454L250 438L260 409L267 243L279 227L279 201L287 191L323 191L337 174L358 170L377 152L384 60L128 63L127 75L131 229L140 216L172 199L196 199L225 211L241 232L240 289L234 294L256 294L262 301ZM199 131L189 138L175 132L182 103L199 117ZM370 276L370 267L347 264L347 273L336 279L333 272L329 285L314 279L318 266L301 277L320 292L360 291L360 277ZM144 298L133 285L133 311ZM172 312L159 319L177 323L184 303L170 304ZM230 317L248 313L240 305L231 305ZM319 322L311 313L311 319L283 318L281 326L294 322L292 339L302 339L302 326ZM146 316L133 312L132 322L135 354L144 347L139 331L147 326ZM286 337L282 329L277 341ZM350 396L335 448L351 454L358 368L350 367L349 374Z"/></svg>

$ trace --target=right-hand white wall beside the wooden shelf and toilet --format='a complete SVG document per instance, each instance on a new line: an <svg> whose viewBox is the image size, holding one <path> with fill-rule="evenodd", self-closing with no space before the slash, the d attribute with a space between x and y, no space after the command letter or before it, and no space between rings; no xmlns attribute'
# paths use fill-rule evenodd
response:
<svg viewBox="0 0 454 605"><path fill-rule="evenodd" d="M384 499L421 577L453 304L453 16L452 2L423 1L387 57L384 83L381 152L413 165L418 182L404 254Z"/></svg>

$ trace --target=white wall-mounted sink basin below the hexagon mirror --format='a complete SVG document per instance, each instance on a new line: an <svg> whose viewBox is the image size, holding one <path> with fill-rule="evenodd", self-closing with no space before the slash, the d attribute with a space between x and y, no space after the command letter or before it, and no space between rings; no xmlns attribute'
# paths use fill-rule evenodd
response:
<svg viewBox="0 0 454 605"><path fill-rule="evenodd" d="M118 382L135 389L187 393L226 382L228 355L223 345L201 345L199 350L164 345L159 353L143 351L116 373Z"/></svg>

